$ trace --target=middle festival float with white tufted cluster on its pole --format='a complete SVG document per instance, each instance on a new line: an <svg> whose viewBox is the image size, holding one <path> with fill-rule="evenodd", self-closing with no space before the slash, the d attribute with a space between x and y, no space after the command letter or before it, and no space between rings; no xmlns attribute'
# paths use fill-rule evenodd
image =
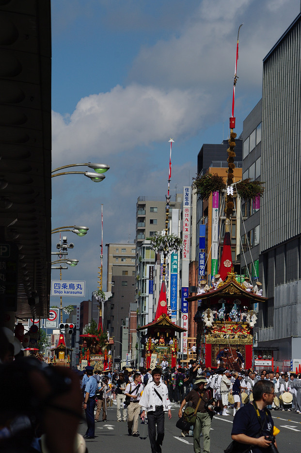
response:
<svg viewBox="0 0 301 453"><path fill-rule="evenodd" d="M182 240L174 234L168 233L168 216L170 208L170 181L172 175L172 144L173 139L169 140L170 143L170 158L169 158L169 172L168 172L168 192L166 196L165 205L165 230L162 233L156 233L151 238L151 248L156 253L163 255L163 272L162 283L160 288L158 306L156 310L155 319L153 322L138 327L138 331L147 330L146 343L145 343L145 361L146 368L154 368L157 363L161 363L166 359L172 367L176 366L176 359L178 355L178 338L176 333L186 332L186 329L176 325L171 320L171 313L167 310L166 299L166 258L172 253L177 252L182 247Z"/></svg>

